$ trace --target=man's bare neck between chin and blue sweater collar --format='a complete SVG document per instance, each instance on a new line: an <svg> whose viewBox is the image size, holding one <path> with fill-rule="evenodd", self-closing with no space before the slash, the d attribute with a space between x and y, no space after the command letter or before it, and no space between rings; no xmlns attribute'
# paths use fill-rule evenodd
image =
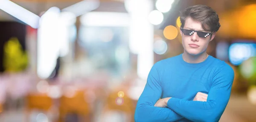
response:
<svg viewBox="0 0 256 122"><path fill-rule="evenodd" d="M201 53L199 55L190 55L184 50L184 53L182 55L182 58L187 63L200 63L203 62L208 57L208 54L206 52Z"/></svg>

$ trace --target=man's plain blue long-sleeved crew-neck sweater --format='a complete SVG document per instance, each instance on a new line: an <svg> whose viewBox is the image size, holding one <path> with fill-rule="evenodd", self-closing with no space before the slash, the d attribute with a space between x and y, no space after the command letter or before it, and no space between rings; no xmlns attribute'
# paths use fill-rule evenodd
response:
<svg viewBox="0 0 256 122"><path fill-rule="evenodd" d="M154 64L135 110L135 122L218 122L230 99L233 69L209 55L201 63L183 60L182 54ZM193 101L198 92L207 102ZM166 108L154 107L160 98Z"/></svg>

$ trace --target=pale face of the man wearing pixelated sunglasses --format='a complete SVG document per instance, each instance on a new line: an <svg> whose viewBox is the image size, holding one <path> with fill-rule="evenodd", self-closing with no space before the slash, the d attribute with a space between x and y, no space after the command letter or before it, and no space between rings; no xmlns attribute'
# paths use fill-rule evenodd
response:
<svg viewBox="0 0 256 122"><path fill-rule="evenodd" d="M198 34L202 35L204 33L200 33L200 32L198 33L195 31L207 32L207 33L211 33L211 32L204 31L204 29L201 26L201 22L195 21L191 19L191 17L187 17L185 21L186 22L183 29L189 30L189 32L190 30L193 30L193 31L191 32L191 35L184 34L182 31L180 31L180 34L182 35L182 45L183 45L184 51L186 51L190 55L200 55L201 53L204 53L207 50L207 46L209 42L212 41L212 39L214 38L215 33L212 34L212 37L210 35L207 35L206 38L204 38L205 36L199 37Z"/></svg>

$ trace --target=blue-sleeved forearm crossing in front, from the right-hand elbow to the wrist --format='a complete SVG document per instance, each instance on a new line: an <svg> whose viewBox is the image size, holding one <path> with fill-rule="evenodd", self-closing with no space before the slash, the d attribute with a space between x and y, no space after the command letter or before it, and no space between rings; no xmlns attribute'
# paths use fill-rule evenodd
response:
<svg viewBox="0 0 256 122"><path fill-rule="evenodd" d="M178 98L171 98L167 106L177 114L195 122L216 122L225 108L224 105L217 105L213 101L187 101Z"/></svg>

